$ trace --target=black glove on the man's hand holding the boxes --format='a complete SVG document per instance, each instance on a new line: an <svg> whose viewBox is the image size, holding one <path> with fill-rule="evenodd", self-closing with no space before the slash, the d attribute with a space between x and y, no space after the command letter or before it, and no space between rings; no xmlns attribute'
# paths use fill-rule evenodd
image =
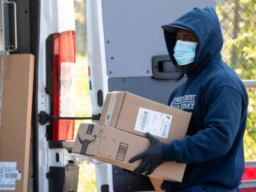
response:
<svg viewBox="0 0 256 192"><path fill-rule="evenodd" d="M164 144L161 143L157 138L154 138L149 132L147 132L147 138L150 140L150 147L145 152L132 157L129 163L133 163L138 159L143 159L140 166L138 166L134 172L144 173L150 175L160 164L164 163Z"/></svg>

